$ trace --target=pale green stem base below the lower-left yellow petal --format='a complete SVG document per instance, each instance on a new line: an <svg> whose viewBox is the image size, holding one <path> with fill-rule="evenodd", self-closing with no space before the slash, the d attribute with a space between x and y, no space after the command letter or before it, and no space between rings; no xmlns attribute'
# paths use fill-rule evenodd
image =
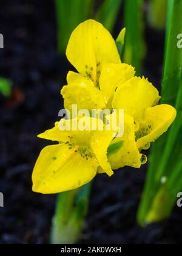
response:
<svg viewBox="0 0 182 256"><path fill-rule="evenodd" d="M58 195L50 241L52 244L78 243L87 214L92 183Z"/></svg>

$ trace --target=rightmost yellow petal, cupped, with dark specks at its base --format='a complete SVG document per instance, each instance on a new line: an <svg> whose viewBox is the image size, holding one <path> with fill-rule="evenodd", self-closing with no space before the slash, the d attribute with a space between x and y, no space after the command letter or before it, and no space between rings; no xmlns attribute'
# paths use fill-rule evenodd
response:
<svg viewBox="0 0 182 256"><path fill-rule="evenodd" d="M140 128L136 132L138 149L148 149L173 123L177 112L170 105L157 105L143 112Z"/></svg>

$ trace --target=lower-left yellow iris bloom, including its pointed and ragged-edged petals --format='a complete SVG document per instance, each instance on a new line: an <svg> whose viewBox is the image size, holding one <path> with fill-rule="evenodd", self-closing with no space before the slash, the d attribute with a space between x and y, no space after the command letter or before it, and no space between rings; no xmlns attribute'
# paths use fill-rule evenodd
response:
<svg viewBox="0 0 182 256"><path fill-rule="evenodd" d="M92 118L82 120L91 127ZM61 121L64 126L69 124L69 120ZM47 146L41 151L33 170L33 191L52 194L73 190L90 182L96 176L98 167L112 176L113 171L107 161L112 130L61 131L56 123L53 129L38 137L58 141L59 144Z"/></svg>

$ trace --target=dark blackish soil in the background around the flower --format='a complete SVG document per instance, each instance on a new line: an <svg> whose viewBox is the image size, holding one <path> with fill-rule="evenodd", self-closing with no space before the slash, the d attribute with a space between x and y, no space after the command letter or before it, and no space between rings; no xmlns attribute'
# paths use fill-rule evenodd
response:
<svg viewBox="0 0 182 256"><path fill-rule="evenodd" d="M0 98L0 243L49 243L55 195L32 192L32 169L47 141L36 135L53 126L62 108L61 86L69 62L56 52L53 1L1 1L0 77L13 80L13 96ZM144 74L160 86L164 33L146 29ZM83 243L181 243L182 215L145 229L135 216L146 168L99 175L93 182Z"/></svg>

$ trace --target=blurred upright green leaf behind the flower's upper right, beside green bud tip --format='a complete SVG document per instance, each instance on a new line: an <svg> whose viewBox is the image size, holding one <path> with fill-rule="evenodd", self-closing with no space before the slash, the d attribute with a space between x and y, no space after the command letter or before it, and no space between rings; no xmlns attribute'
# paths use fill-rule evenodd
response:
<svg viewBox="0 0 182 256"><path fill-rule="evenodd" d="M124 27L126 27L124 62L135 66L136 75L140 75L143 59L146 55L146 45L143 38L143 0L125 1Z"/></svg>

